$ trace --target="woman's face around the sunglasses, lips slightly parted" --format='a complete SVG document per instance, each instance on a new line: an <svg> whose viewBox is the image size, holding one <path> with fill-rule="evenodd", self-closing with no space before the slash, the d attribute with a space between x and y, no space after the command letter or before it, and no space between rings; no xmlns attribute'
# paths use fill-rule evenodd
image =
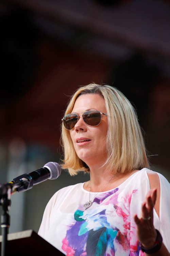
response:
<svg viewBox="0 0 170 256"><path fill-rule="evenodd" d="M72 113L81 113L87 110L98 110L106 113L103 97L99 94L84 94L79 96L75 101ZM70 130L71 139L78 157L89 167L91 164L103 164L107 159L107 129L107 116L102 115L101 122L98 126L87 125L81 117L75 124L75 127Z"/></svg>

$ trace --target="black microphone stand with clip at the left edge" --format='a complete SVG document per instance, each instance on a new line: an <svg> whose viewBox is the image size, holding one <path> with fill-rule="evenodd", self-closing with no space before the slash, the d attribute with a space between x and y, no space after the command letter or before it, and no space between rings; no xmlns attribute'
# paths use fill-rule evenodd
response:
<svg viewBox="0 0 170 256"><path fill-rule="evenodd" d="M1 214L1 230L2 230L2 243L1 243L1 256L7 256L7 235L10 227L10 206L11 206L11 195L13 190L19 187L24 187L27 190L32 183L29 179L22 178L19 182L0 184L0 205L2 205Z"/></svg>

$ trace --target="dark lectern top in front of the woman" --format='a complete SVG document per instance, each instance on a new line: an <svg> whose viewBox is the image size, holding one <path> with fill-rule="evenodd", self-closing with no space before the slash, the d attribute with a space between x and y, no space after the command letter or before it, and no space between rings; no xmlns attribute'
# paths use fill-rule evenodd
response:
<svg viewBox="0 0 170 256"><path fill-rule="evenodd" d="M0 246L2 236L0 236ZM17 256L63 256L53 245L40 237L33 230L8 234L6 255Z"/></svg>

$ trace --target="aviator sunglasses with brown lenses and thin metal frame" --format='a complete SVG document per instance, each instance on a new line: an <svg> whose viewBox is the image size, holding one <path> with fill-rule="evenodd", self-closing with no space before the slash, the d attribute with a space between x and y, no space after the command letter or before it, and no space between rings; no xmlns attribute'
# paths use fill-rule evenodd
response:
<svg viewBox="0 0 170 256"><path fill-rule="evenodd" d="M78 114L83 113L81 116ZM90 126L97 126L100 124L102 115L107 116L105 113L101 113L98 110L89 110L86 112L72 113L65 115L62 119L64 127L67 130L74 128L75 124L79 121L79 118L82 117L83 121Z"/></svg>

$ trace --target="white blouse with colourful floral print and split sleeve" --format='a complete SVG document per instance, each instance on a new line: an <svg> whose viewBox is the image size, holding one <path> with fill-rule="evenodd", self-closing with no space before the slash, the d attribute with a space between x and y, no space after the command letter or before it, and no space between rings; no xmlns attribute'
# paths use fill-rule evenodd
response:
<svg viewBox="0 0 170 256"><path fill-rule="evenodd" d="M142 256L134 214L150 190L147 168L135 172L115 189L91 192L93 204L84 210L89 192L84 183L64 187L48 202L38 234L69 256ZM160 216L154 209L154 227L170 251L170 184L160 180Z"/></svg>

